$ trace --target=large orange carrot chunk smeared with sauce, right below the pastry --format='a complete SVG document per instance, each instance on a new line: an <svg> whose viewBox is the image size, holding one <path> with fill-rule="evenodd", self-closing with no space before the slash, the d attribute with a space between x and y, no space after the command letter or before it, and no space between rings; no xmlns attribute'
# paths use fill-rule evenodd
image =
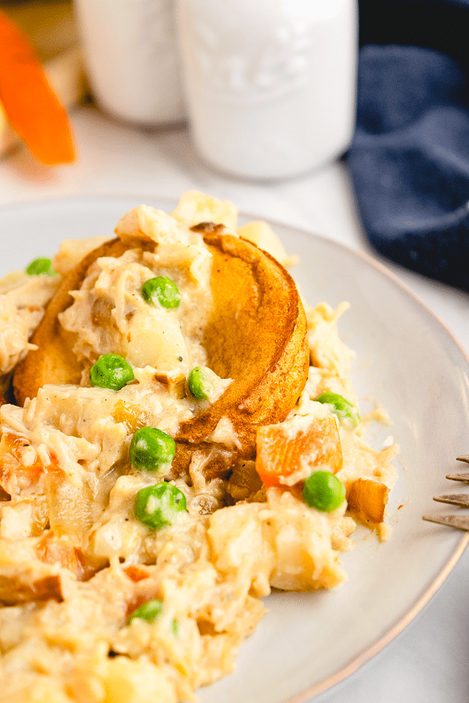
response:
<svg viewBox="0 0 469 703"><path fill-rule="evenodd" d="M256 471L265 486L287 486L318 467L336 473L342 468L342 446L334 416L312 418L290 432L286 425L259 427ZM307 476L302 476L305 479Z"/></svg>

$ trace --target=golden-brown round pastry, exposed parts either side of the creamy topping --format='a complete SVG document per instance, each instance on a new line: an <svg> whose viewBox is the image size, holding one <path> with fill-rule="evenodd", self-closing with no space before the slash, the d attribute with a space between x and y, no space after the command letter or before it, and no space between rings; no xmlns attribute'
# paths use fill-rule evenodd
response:
<svg viewBox="0 0 469 703"><path fill-rule="evenodd" d="M215 403L180 425L173 470L187 470L199 449L211 455L207 468L213 477L225 474L234 455L254 458L256 428L284 420L299 398L308 375L306 316L292 277L273 257L227 233L223 225L201 223L193 229L204 234L213 254L213 311L204 332L207 364L233 382ZM69 291L80 288L98 257L118 257L127 248L121 240L107 242L63 280L32 337L39 348L15 370L19 404L45 383L80 384L74 335L63 330L57 316L72 304ZM100 323L106 323L106 311L96 310L96 316L104 316ZM230 451L208 439L222 418L230 420L237 434L238 446Z"/></svg>

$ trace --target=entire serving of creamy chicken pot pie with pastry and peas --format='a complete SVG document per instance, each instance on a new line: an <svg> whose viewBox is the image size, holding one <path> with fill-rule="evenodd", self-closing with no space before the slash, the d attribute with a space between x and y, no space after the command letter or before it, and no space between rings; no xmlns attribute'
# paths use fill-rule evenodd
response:
<svg viewBox="0 0 469 703"><path fill-rule="evenodd" d="M201 193L115 234L0 288L8 703L192 699L271 588L339 586L356 520L389 532L346 304L308 308L273 231Z"/></svg>

